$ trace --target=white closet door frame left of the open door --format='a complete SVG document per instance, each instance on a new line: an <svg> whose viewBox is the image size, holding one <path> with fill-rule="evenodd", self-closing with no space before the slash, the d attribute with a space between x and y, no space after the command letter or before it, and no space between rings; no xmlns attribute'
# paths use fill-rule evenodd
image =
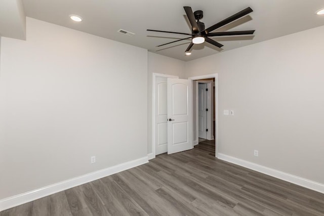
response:
<svg viewBox="0 0 324 216"><path fill-rule="evenodd" d="M155 80L156 77L166 77L166 78L179 78L179 76L174 75L168 75L168 74L162 74L162 73L153 73L152 74L152 155L150 155L149 159L155 158L155 103L156 103L156 97L155 97Z"/></svg>

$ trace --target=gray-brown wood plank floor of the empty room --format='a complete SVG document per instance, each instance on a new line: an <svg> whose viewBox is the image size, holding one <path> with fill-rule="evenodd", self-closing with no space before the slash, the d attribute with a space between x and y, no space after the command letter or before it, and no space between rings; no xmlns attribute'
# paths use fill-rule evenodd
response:
<svg viewBox="0 0 324 216"><path fill-rule="evenodd" d="M218 160L204 141L4 215L324 215L324 194Z"/></svg>

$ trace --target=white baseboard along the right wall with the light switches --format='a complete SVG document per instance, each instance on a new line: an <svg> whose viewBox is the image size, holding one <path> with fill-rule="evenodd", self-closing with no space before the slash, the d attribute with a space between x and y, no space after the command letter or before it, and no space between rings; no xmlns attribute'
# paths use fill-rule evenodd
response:
<svg viewBox="0 0 324 216"><path fill-rule="evenodd" d="M302 186L302 187L305 187L305 188L308 188L308 189L311 189L311 190L314 190L314 191L317 191L320 193L324 193L324 185L321 183L318 183L318 182L314 182L314 181L311 181L308 179L294 176L294 175L288 174L286 172L282 172L282 171L279 171L276 169L272 169L272 168L269 168L266 166L259 165L257 163L252 163L252 162L242 160L242 159L239 159L236 157L228 156L226 154L218 153L217 158L221 159L221 160L225 160L230 163L240 165L240 166L244 166L249 169L253 169L258 172L262 172L263 174L275 177L277 179L281 179L281 180L284 180L284 181L287 181L287 182L290 182L290 183L293 183L293 184L296 184L296 185L299 185L299 186Z"/></svg>

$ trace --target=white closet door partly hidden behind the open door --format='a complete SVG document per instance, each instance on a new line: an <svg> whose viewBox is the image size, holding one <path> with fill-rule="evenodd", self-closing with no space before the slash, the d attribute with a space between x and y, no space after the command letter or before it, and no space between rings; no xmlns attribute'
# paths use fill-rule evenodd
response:
<svg viewBox="0 0 324 216"><path fill-rule="evenodd" d="M167 77L155 79L155 155L168 151Z"/></svg>

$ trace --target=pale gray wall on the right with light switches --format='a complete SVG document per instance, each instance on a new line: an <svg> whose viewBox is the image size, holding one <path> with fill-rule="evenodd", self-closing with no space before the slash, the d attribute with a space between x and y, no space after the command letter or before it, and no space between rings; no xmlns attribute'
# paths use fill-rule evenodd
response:
<svg viewBox="0 0 324 216"><path fill-rule="evenodd" d="M324 26L186 62L186 77L218 73L220 153L324 183L323 37Z"/></svg>

